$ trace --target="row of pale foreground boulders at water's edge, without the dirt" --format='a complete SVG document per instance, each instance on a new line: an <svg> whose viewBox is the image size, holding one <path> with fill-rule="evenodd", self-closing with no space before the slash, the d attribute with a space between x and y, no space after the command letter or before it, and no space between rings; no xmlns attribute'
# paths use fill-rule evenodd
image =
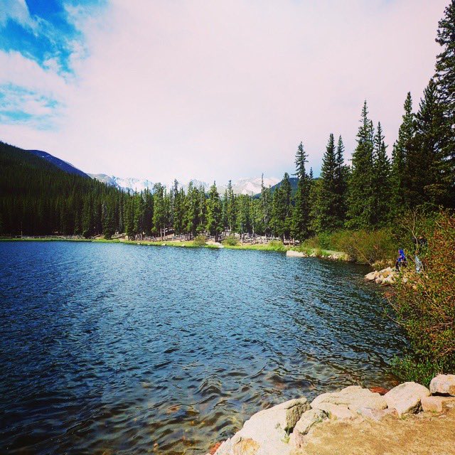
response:
<svg viewBox="0 0 455 455"><path fill-rule="evenodd" d="M404 382L388 391L350 385L338 392L323 393L311 402L306 397L299 397L257 412L239 432L208 455L304 454L306 447L314 442L316 429L323 432L331 422L349 422L353 429L369 422L374 429L383 419L392 419L390 427L393 429L405 417L432 417L434 413L445 417L446 412L454 416L455 375L438 375L429 389L416 382ZM455 427L453 434L455 436ZM350 441L345 442L346 452L343 453L360 453L348 452L352 447ZM446 452L435 453L453 454L455 446Z"/></svg>

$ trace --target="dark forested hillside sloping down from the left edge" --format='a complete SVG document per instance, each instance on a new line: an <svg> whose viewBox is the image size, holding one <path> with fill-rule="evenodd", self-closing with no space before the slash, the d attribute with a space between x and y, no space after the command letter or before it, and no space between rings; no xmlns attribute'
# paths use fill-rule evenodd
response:
<svg viewBox="0 0 455 455"><path fill-rule="evenodd" d="M21 234L80 234L102 231L112 212L114 228L128 197L91 178L62 171L28 151L0 142L0 232Z"/></svg>

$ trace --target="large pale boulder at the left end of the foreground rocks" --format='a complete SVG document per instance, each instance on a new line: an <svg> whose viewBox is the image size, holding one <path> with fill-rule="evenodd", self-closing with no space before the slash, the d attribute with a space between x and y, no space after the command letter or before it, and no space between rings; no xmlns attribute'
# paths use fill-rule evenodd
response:
<svg viewBox="0 0 455 455"><path fill-rule="evenodd" d="M289 433L304 412L306 398L289 400L254 414L231 439L221 444L216 455L288 455Z"/></svg>

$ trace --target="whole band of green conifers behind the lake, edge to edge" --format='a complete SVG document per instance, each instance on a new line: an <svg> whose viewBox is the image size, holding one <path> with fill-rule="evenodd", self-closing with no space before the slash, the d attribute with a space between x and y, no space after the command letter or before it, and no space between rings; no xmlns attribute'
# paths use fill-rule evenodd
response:
<svg viewBox="0 0 455 455"><path fill-rule="evenodd" d="M235 195L229 183L223 195L215 183L208 193L175 181L153 191L123 193L97 181L71 176L0 145L0 233L76 234L90 237L126 232L130 238L168 233L193 237L222 232L305 240L341 228L375 229L391 225L417 205L453 208L455 204L455 0L439 21L436 73L424 90L419 109L407 94L392 159L381 124L375 127L363 105L350 166L343 139L328 137L321 176L306 170L307 154L296 151L298 178L289 174L258 197ZM30 154L28 154L30 155ZM37 161L38 160L38 161ZM41 161L41 162L40 162Z"/></svg>

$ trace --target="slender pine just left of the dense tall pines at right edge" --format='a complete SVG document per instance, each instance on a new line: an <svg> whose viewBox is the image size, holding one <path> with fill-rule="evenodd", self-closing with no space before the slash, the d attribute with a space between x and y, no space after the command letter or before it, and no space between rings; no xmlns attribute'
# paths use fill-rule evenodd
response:
<svg viewBox="0 0 455 455"><path fill-rule="evenodd" d="M415 135L415 118L412 112L412 97L408 92L405 100L405 114L398 131L398 139L392 151L392 215L405 210L407 203L407 159L412 154Z"/></svg>

